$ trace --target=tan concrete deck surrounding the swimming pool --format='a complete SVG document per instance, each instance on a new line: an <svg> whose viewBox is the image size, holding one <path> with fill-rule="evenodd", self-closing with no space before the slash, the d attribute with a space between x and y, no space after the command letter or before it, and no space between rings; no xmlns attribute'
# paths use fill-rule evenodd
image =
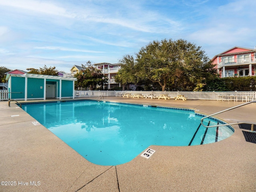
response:
<svg viewBox="0 0 256 192"><path fill-rule="evenodd" d="M104 99L193 108L204 114L244 103L122 97ZM256 191L256 144L245 141L238 125L233 126L235 132L230 138L220 142L182 147L152 145L149 147L156 152L149 159L138 154L126 164L99 166L88 162L44 126L34 126L32 122L36 120L17 108L14 101L10 107L7 101L1 101L0 112L0 192ZM216 117L226 122L256 122L256 103ZM2 185L3 181L7 185Z"/></svg>

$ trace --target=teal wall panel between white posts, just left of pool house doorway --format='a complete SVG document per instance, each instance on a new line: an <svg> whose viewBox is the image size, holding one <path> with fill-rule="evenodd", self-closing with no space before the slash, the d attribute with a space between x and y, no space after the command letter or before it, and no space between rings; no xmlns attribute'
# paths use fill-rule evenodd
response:
<svg viewBox="0 0 256 192"><path fill-rule="evenodd" d="M30 98L44 98L44 79L28 78L28 99Z"/></svg>

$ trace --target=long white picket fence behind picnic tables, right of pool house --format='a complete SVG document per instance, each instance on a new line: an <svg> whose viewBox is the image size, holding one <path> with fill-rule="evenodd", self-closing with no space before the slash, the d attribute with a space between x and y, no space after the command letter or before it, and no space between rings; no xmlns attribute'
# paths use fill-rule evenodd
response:
<svg viewBox="0 0 256 192"><path fill-rule="evenodd" d="M153 94L158 97L161 94L166 94L170 98L175 98L177 95L184 95L190 100L222 100L222 101L251 101L256 100L256 91L229 91L229 92L192 92L192 91L75 91L75 98L96 97L96 96L123 96L130 93L142 94L146 96Z"/></svg>

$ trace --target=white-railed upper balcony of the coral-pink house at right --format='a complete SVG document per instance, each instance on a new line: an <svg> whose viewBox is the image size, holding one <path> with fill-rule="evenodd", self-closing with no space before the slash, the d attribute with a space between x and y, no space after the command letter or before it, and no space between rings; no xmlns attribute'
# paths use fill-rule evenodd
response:
<svg viewBox="0 0 256 192"><path fill-rule="evenodd" d="M218 68L223 66L237 66L237 65L248 65L256 64L254 57L244 57L244 58L234 58L234 59L225 59L218 64Z"/></svg>

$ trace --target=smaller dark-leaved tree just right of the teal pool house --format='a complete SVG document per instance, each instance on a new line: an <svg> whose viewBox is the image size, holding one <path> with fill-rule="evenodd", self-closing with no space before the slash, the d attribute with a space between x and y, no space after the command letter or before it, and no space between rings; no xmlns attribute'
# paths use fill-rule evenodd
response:
<svg viewBox="0 0 256 192"><path fill-rule="evenodd" d="M87 66L82 64L83 69L80 70L75 77L77 81L75 82L76 88L89 88L90 90L95 90L97 87L103 87L108 78L104 76L101 70L96 69L92 66L91 62L87 62Z"/></svg>

